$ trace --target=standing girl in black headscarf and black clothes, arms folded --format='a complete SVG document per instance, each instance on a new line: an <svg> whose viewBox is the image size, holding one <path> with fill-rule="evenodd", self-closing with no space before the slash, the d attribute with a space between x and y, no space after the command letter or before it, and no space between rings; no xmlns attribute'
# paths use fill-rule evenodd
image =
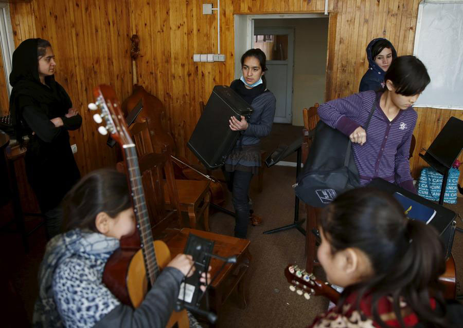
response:
<svg viewBox="0 0 463 328"><path fill-rule="evenodd" d="M55 81L55 55L48 41L30 38L13 52L10 115L16 140L23 145L27 179L45 217L47 237L60 232L57 206L79 180L68 130L77 130L82 117L63 87Z"/></svg>

